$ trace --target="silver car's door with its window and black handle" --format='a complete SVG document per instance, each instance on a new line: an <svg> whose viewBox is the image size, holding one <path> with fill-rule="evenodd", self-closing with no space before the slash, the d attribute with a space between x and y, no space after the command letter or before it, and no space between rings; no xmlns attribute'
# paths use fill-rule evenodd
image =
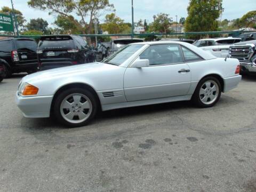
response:
<svg viewBox="0 0 256 192"><path fill-rule="evenodd" d="M148 59L149 67L127 68L124 92L127 101L186 95L190 87L190 70L183 61L179 44L149 46L137 59Z"/></svg>

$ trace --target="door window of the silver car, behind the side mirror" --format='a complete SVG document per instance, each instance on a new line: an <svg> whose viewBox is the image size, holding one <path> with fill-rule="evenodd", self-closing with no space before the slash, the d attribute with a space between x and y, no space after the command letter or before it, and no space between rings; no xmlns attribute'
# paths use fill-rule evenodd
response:
<svg viewBox="0 0 256 192"><path fill-rule="evenodd" d="M140 54L140 59L148 59L151 66L183 62L180 46L177 44L151 45Z"/></svg>

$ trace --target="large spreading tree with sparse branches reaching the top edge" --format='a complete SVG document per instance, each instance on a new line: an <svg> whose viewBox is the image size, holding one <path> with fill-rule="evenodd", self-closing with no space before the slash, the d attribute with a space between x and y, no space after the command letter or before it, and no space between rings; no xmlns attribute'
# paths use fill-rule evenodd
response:
<svg viewBox="0 0 256 192"><path fill-rule="evenodd" d="M66 17L67 24L72 21L74 15L79 17L75 25L80 25L78 28L88 28L88 33L93 31L93 19L98 18L100 11L110 11L114 9L114 5L108 0L29 0L28 5L35 9L48 11L49 14L57 14L57 16ZM89 25L85 18L89 17ZM57 21L58 22L58 21ZM62 24L65 22L62 22Z"/></svg>

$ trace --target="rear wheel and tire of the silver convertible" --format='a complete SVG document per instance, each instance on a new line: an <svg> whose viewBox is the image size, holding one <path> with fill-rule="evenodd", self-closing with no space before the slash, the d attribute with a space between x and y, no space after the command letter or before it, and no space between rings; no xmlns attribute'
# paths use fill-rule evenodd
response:
<svg viewBox="0 0 256 192"><path fill-rule="evenodd" d="M212 107L219 101L221 90L221 84L217 78L205 77L198 83L192 101L201 108Z"/></svg>

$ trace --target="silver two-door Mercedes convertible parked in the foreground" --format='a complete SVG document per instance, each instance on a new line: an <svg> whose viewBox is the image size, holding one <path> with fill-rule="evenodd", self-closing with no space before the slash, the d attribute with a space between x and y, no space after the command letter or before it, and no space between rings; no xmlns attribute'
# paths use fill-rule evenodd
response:
<svg viewBox="0 0 256 192"><path fill-rule="evenodd" d="M41 71L22 78L16 95L25 117L83 126L98 110L193 100L212 107L241 81L237 59L183 42L134 43L102 62Z"/></svg>

